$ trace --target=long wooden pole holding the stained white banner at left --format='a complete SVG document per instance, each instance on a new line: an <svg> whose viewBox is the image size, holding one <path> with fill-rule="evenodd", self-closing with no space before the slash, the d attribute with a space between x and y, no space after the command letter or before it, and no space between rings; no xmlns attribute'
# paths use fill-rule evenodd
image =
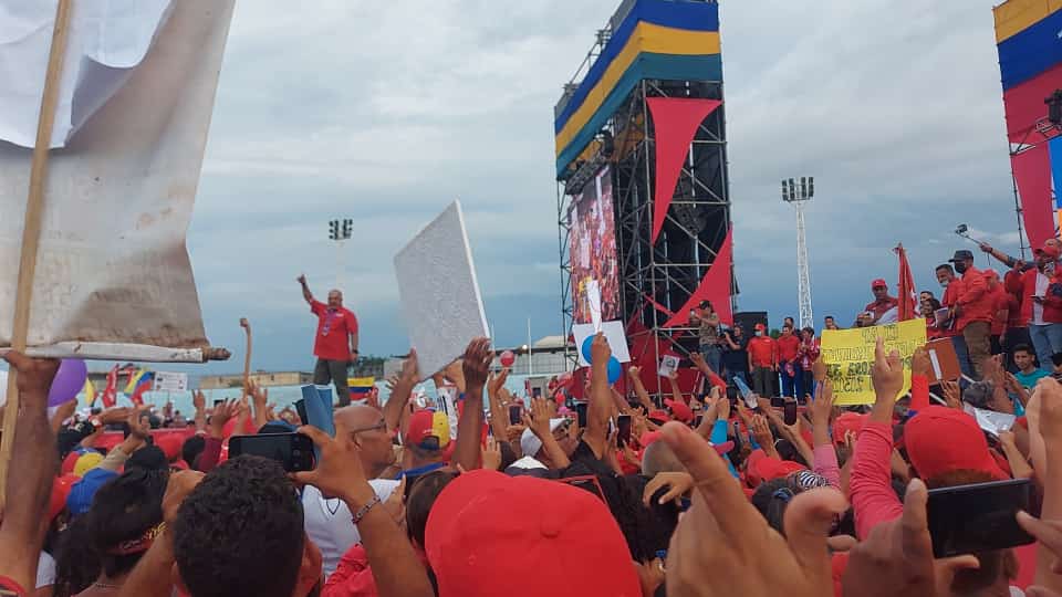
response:
<svg viewBox="0 0 1062 597"><path fill-rule="evenodd" d="M41 114L37 124L37 143L33 145L33 163L30 168L30 193L25 201L25 223L22 228L22 251L19 261L19 285L14 298L14 324L11 327L11 348L25 350L30 332L30 302L33 298L33 277L37 270L37 253L41 241L41 223L44 214L44 184L48 180L48 154L52 145L52 125L55 123L55 105L66 54L66 36L70 32L72 0L59 0L55 9L55 27L52 29L52 45L48 55L48 72L44 93L41 96ZM8 463L14 442L14 425L19 416L18 371L8 374L8 404L3 409L3 434L0 436L0 510L7 493Z"/></svg>

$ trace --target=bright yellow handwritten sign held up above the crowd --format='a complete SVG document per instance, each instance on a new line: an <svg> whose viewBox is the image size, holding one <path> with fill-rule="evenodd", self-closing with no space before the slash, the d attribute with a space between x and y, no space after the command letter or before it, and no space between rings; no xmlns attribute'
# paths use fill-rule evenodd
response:
<svg viewBox="0 0 1062 597"><path fill-rule="evenodd" d="M898 350L904 363L904 387L897 398L910 390L910 356L926 345L925 320L854 329L825 329L822 333L822 360L833 381L837 406L874 404L871 369L877 338L885 341L886 354Z"/></svg>

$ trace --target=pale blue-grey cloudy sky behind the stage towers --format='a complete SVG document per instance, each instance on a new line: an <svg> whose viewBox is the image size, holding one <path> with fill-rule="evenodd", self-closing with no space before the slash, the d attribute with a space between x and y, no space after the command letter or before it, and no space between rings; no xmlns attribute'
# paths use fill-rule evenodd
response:
<svg viewBox="0 0 1062 597"><path fill-rule="evenodd" d="M343 287L362 352L405 352L395 252L460 198L501 345L561 327L552 107L618 2L237 2L189 250L216 345L312 365L294 282ZM919 286L967 222L1017 251L991 0L721 4L741 310L796 312L783 177L812 175L816 318L854 317L909 249ZM983 265L979 262L979 265ZM430 297L426 297L430 300ZM211 366L235 370L232 362Z"/></svg>

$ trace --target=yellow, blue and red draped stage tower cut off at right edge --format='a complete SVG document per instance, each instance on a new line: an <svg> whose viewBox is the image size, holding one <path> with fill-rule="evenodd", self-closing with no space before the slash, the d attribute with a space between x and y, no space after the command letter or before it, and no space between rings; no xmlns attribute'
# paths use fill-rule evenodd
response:
<svg viewBox="0 0 1062 597"><path fill-rule="evenodd" d="M1062 223L1062 1L1008 0L993 12L1018 228L1039 248Z"/></svg>

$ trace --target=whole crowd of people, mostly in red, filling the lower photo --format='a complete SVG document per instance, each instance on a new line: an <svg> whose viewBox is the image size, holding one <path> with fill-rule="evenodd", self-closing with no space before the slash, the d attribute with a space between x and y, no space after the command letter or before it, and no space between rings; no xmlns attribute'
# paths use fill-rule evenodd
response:
<svg viewBox="0 0 1062 597"><path fill-rule="evenodd" d="M943 404L930 396L925 348L902 395L904 364L878 341L874 404L837 407L813 329L787 320L778 338L762 325L747 337L708 304L695 321L702 354L690 355L711 380L702 392L673 374L656 399L637 367L611 383L612 347L598 335L582 391L563 376L548 397L517 396L509 371L492 369L489 341L476 339L433 377L440 390L456 388L456 426L446 409L414 399L421 371L410 350L387 399L340 405L332 434L292 409L275 412L253 387L212 407L197 394L187 421L142 408L83 421L73 405L45 406L56 362L9 353L20 410L0 588L39 597L1062 595L1062 469L1049 465L1062 461L1062 384L1050 375L1062 365L1051 345L1051 326L1062 326L1059 249L1041 248L1033 266L985 251L1010 265L1001 282L960 251L954 272L938 270L943 301L920 297L929 335L961 341L977 380L941 383ZM886 323L895 306L883 281L872 291L857 326ZM330 305L305 295L319 343L341 320L353 324L353 314L335 315L342 295ZM995 325L1004 302L1008 321ZM1028 339L1016 333L1024 323ZM356 355L355 326L336 334L345 354L322 362ZM733 399L728 386L747 376L751 400ZM975 408L1013 425L986 431ZM104 442L113 430L121 440ZM233 437L289 433L314 443L312 469L230 454ZM1035 543L934 557L930 489L1002 480L1030 480L1029 512L1007 515Z"/></svg>

